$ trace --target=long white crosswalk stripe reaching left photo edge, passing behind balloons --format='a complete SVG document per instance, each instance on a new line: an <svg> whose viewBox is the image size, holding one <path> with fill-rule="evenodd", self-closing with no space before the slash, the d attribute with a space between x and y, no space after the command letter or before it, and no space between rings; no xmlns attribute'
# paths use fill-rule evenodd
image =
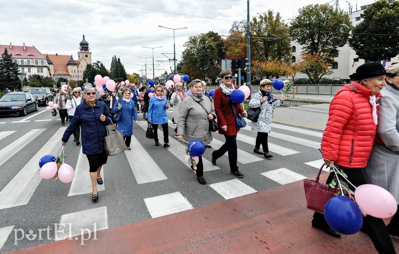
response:
<svg viewBox="0 0 399 254"><path fill-rule="evenodd" d="M28 203L41 180L38 170L38 162L43 155L57 153L60 146L59 137L62 136L65 129L66 127L59 128L58 131L40 149L40 151L37 152L18 172L18 174L16 174L16 176L1 190L0 209L26 205ZM26 143L24 143L24 145L26 145Z"/></svg>

